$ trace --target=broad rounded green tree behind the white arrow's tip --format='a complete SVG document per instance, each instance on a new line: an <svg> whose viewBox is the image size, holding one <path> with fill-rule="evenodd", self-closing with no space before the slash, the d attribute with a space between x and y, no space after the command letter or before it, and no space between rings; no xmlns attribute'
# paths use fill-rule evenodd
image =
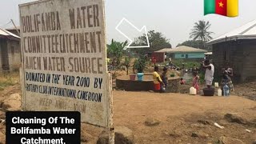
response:
<svg viewBox="0 0 256 144"><path fill-rule="evenodd" d="M161 50L162 48L171 48L171 44L169 42L169 39L167 39L161 32L156 32L154 30L150 30L147 33L149 42L150 42L150 48L144 48L144 49L133 49L134 51L137 51L139 53L146 53L146 52L154 52L157 50ZM135 42L132 46L146 46L146 34L143 34L142 36L135 39Z"/></svg>

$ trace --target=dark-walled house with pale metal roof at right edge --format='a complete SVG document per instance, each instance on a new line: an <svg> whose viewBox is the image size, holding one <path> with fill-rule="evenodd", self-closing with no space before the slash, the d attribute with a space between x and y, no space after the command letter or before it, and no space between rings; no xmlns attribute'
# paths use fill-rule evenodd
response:
<svg viewBox="0 0 256 144"><path fill-rule="evenodd" d="M245 82L256 79L256 20L207 42L213 46L215 74L229 63L234 80Z"/></svg>

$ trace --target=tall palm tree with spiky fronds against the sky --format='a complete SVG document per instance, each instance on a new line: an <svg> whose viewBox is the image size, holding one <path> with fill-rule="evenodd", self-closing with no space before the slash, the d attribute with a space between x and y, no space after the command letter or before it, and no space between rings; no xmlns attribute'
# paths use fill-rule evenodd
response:
<svg viewBox="0 0 256 144"><path fill-rule="evenodd" d="M210 34L214 34L213 32L209 31L210 26L209 21L195 22L194 27L190 32L190 38L193 38L194 40L200 39L201 45L204 47L204 42L207 42L212 38Z"/></svg>

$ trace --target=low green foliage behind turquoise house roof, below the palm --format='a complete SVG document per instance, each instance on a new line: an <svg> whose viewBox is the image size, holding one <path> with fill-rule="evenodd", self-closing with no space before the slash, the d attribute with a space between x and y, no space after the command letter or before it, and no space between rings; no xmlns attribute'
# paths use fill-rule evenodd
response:
<svg viewBox="0 0 256 144"><path fill-rule="evenodd" d="M205 42L204 42L205 43ZM212 46L202 46L201 40L188 40L182 43L179 43L177 46L190 46L194 48L199 48L203 50L212 51Z"/></svg>

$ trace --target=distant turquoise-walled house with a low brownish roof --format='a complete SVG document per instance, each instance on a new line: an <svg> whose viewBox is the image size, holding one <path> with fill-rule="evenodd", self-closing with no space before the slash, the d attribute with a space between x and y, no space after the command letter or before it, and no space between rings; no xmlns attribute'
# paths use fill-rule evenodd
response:
<svg viewBox="0 0 256 144"><path fill-rule="evenodd" d="M178 46L173 49L162 49L156 51L156 53L166 54L167 58L189 60L203 60L206 52L206 50L196 49L189 46Z"/></svg>

